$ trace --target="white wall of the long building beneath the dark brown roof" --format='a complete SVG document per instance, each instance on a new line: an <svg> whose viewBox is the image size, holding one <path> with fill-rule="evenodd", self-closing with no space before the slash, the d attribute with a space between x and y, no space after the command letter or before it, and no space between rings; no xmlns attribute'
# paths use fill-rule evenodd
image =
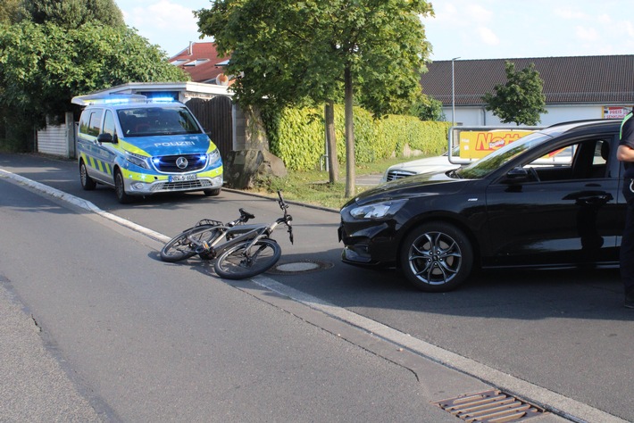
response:
<svg viewBox="0 0 634 423"><path fill-rule="evenodd" d="M608 104L569 104L546 105L547 113L541 115L538 126L550 126L569 120L603 119L604 106ZM609 104L631 108L631 104ZM451 121L451 107L444 107L447 121ZM455 107L455 124L464 126L515 126L514 123L502 123L484 107Z"/></svg>

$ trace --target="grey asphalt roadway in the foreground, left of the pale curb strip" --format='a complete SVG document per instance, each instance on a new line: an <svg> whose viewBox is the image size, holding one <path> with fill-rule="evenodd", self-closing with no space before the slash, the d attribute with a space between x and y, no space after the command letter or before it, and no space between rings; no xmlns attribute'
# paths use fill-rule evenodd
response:
<svg viewBox="0 0 634 423"><path fill-rule="evenodd" d="M0 421L451 422L434 395L483 387L253 282L157 260L162 244L118 221L0 189Z"/></svg>

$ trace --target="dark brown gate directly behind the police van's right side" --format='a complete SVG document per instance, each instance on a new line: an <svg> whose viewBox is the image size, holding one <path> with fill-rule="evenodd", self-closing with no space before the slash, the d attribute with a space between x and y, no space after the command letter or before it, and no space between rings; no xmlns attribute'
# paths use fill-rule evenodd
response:
<svg viewBox="0 0 634 423"><path fill-rule="evenodd" d="M220 95L211 100L193 98L187 103L189 110L209 133L213 143L221 152L222 160L226 160L233 150L232 102L229 97Z"/></svg>

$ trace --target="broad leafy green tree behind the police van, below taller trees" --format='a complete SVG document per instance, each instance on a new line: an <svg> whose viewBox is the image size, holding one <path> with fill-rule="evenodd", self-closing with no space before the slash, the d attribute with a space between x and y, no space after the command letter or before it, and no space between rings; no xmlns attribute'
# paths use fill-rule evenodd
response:
<svg viewBox="0 0 634 423"><path fill-rule="evenodd" d="M187 80L158 46L127 27L0 26L0 104L40 122L70 111L71 97L127 82Z"/></svg>

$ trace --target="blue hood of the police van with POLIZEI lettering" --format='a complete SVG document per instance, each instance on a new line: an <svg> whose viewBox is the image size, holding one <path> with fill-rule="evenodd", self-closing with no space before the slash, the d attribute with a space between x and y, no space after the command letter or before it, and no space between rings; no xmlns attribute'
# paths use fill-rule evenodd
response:
<svg viewBox="0 0 634 423"><path fill-rule="evenodd" d="M215 145L205 134L186 134L120 138L121 147L130 153L151 156L207 153Z"/></svg>

